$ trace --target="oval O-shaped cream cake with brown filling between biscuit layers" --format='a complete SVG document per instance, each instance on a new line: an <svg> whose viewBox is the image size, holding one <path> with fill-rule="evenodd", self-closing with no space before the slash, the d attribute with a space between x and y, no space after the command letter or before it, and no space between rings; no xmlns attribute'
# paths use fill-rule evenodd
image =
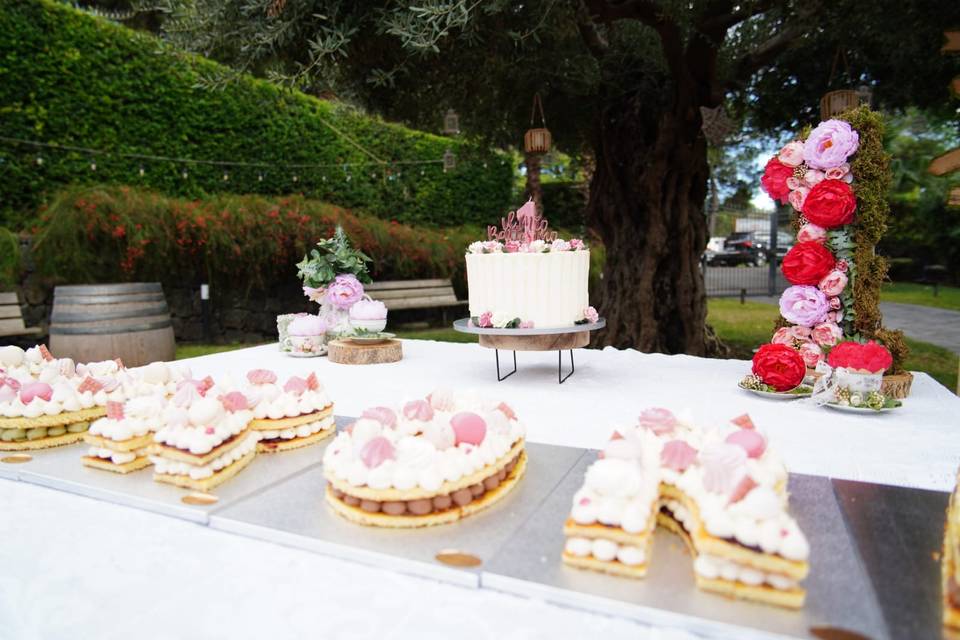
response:
<svg viewBox="0 0 960 640"><path fill-rule="evenodd" d="M373 407L324 453L327 502L381 527L446 524L502 499L526 468L524 428L502 402L435 391Z"/></svg>

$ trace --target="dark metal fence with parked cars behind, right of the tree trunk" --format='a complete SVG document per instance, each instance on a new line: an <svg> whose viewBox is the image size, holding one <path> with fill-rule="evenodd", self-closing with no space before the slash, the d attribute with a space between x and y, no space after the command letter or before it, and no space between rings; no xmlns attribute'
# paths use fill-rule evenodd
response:
<svg viewBox="0 0 960 640"><path fill-rule="evenodd" d="M708 296L778 296L789 286L780 272L795 241L789 211L723 207L709 225L700 261Z"/></svg>

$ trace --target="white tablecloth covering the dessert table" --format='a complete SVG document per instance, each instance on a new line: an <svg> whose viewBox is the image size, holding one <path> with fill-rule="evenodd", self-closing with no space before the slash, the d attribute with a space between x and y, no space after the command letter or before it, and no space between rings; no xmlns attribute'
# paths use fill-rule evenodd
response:
<svg viewBox="0 0 960 640"><path fill-rule="evenodd" d="M373 367L297 360L274 346L190 364L195 375L317 371L341 415L437 386L476 387L510 403L536 442L599 447L616 423L657 405L710 421L749 412L794 472L947 490L960 460L960 400L926 375L902 410L862 417L741 392L745 362L610 349L576 358L563 385L556 353L518 354L519 372L498 383L492 352L434 342L407 341L402 362ZM0 639L588 636L685 634L0 480Z"/></svg>

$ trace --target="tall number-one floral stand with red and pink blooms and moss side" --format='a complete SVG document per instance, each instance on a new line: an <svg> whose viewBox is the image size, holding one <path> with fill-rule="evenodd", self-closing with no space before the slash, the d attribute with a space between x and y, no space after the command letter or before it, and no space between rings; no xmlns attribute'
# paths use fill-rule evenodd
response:
<svg viewBox="0 0 960 640"><path fill-rule="evenodd" d="M763 189L797 216L797 242L781 265L791 286L771 342L795 349L810 369L843 340L881 340L893 351L891 372L906 355L878 308L886 265L874 246L885 228L888 161L879 116L864 107L821 122L765 166Z"/></svg>

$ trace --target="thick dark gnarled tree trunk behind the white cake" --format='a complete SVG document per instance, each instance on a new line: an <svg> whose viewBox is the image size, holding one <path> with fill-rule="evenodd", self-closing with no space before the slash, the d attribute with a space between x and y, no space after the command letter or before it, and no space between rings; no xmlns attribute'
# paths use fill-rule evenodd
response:
<svg viewBox="0 0 960 640"><path fill-rule="evenodd" d="M700 270L709 168L696 99L678 92L656 104L624 98L608 105L595 151L588 220L606 248L598 299L607 320L596 343L714 351Z"/></svg>

